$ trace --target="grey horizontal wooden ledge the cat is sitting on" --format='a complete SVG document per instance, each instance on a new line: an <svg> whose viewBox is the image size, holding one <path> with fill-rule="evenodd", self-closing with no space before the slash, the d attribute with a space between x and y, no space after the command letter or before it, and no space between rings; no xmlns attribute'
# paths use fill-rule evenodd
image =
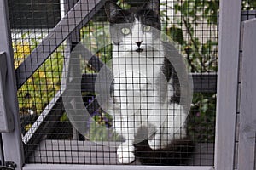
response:
<svg viewBox="0 0 256 170"><path fill-rule="evenodd" d="M114 145L113 143L111 145ZM117 143L116 145L119 145ZM187 162L193 166L212 166L214 144L196 144L195 152ZM116 147L95 144L90 141L42 140L28 163L76 163L97 165L118 165ZM140 165L135 161L132 165Z"/></svg>

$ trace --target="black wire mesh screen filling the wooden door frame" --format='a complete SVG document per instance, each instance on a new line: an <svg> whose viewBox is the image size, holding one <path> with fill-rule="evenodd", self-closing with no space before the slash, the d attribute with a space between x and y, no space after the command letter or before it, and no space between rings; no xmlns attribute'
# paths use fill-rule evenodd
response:
<svg viewBox="0 0 256 170"><path fill-rule="evenodd" d="M218 1L8 3L26 163L213 166Z"/></svg>

